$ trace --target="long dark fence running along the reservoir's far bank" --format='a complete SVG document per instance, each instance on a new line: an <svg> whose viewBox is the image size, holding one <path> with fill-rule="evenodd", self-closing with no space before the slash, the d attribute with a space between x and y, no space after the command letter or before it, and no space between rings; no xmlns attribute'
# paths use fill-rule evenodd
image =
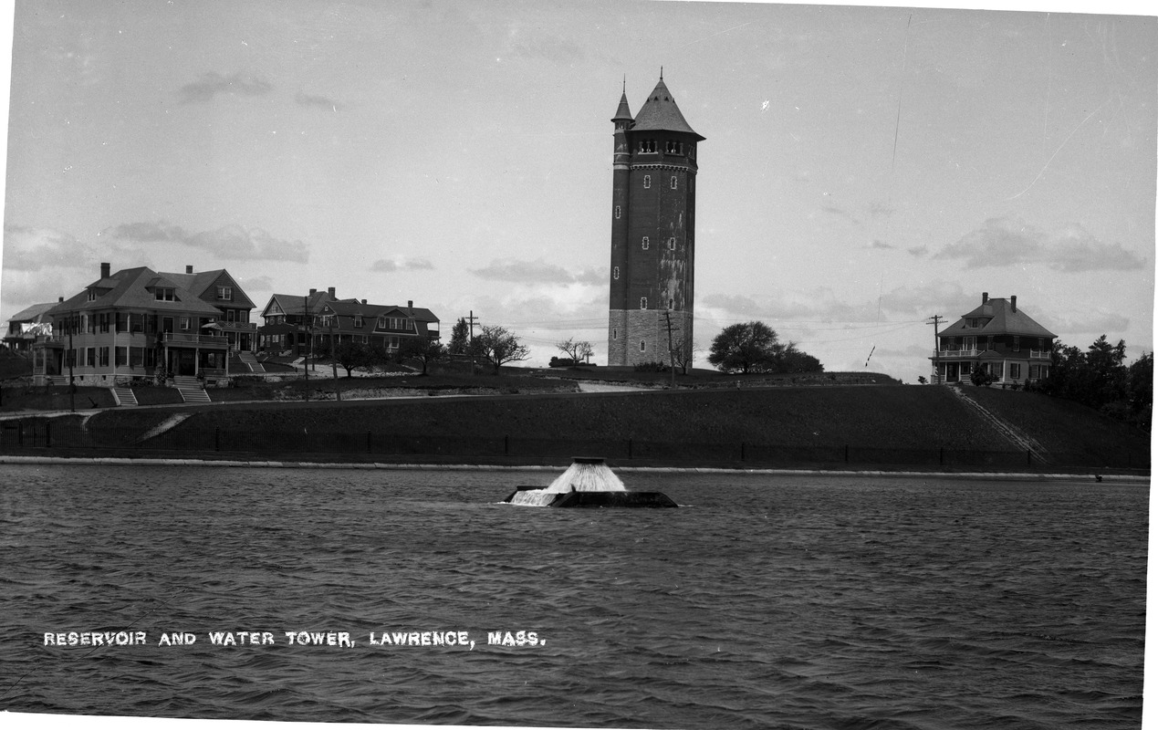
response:
<svg viewBox="0 0 1158 730"><path fill-rule="evenodd" d="M178 426L156 436L137 430L86 429L51 421L8 421L0 424L0 453L126 452L139 455L230 454L266 459L308 460L342 455L353 461L375 458L463 458L518 460L595 455L628 462L727 465L734 467L918 467L918 468L1127 468L1149 469L1149 452L1049 454L1046 461L1029 452L957 448L881 448L857 445L797 446L748 441L688 443L647 439L557 439L489 436L417 436L405 433L240 431Z"/></svg>

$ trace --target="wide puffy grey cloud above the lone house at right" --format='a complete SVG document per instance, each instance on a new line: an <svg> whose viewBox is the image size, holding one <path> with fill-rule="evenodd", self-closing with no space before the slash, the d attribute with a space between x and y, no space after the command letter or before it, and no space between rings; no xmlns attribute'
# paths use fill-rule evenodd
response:
<svg viewBox="0 0 1158 730"><path fill-rule="evenodd" d="M1055 271L1128 271L1146 263L1120 243L1102 243L1078 224L1050 236L1012 218L990 218L935 258L959 258L967 269L1043 264Z"/></svg>

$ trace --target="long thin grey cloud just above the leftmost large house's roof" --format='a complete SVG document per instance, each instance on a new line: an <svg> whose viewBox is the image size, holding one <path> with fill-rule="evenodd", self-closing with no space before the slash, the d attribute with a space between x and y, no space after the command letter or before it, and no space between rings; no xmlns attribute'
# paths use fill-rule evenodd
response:
<svg viewBox="0 0 1158 730"><path fill-rule="evenodd" d="M287 261L306 263L309 247L301 241L276 239L261 228L245 229L241 226L222 226L217 231L190 233L181 226L157 222L122 224L101 232L115 241L140 243L179 243L190 248L207 250L228 261Z"/></svg>

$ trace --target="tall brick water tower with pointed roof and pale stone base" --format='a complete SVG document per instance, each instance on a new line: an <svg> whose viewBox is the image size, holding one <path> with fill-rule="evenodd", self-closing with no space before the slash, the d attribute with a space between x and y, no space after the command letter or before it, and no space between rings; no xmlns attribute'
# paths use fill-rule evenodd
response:
<svg viewBox="0 0 1158 730"><path fill-rule="evenodd" d="M607 364L690 363L696 148L660 74L632 118L626 89L611 118L611 270Z"/></svg>

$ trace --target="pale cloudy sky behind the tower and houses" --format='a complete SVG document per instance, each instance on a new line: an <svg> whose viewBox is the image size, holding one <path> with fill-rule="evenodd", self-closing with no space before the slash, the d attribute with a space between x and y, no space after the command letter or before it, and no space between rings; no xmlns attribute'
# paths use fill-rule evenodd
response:
<svg viewBox="0 0 1158 730"><path fill-rule="evenodd" d="M1089 6L1087 6L1089 7ZM1109 2L1100 12L1124 12ZM611 116L698 148L695 342L916 382L990 297L1153 350L1158 19L731 2L20 0L0 320L112 270L471 312L607 358Z"/></svg>

